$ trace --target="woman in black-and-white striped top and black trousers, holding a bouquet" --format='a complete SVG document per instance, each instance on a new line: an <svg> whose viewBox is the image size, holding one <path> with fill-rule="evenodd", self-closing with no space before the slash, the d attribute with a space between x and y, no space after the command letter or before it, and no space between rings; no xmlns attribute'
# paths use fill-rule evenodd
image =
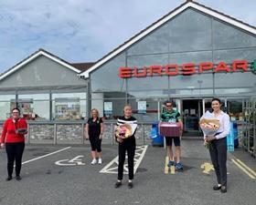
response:
<svg viewBox="0 0 256 205"><path fill-rule="evenodd" d="M132 108L131 106L125 106L123 108L124 116L121 118L118 118L117 125L122 124L129 124L129 125L137 125L136 118L132 117ZM115 188L119 188L122 185L122 179L123 179L123 164L125 160L125 153L127 151L128 155L128 170L129 170L129 181L128 181L128 188L133 188L133 160L135 155L135 149L136 149L136 142L135 142L135 134L136 129L133 130L132 136L129 138L118 138L117 141L119 142L118 146L118 179L115 183Z"/></svg>

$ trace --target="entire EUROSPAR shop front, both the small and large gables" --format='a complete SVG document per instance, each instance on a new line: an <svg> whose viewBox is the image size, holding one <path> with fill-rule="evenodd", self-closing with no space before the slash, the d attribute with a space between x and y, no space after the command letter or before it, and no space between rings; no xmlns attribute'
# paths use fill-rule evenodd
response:
<svg viewBox="0 0 256 205"><path fill-rule="evenodd" d="M219 97L241 122L256 96L255 54L255 27L187 1L90 66L78 68L42 49L28 56L0 76L0 120L18 106L37 131L33 138L84 143L84 120L98 108L112 142L112 122L124 105L133 107L148 137L144 130L172 99L191 134Z"/></svg>

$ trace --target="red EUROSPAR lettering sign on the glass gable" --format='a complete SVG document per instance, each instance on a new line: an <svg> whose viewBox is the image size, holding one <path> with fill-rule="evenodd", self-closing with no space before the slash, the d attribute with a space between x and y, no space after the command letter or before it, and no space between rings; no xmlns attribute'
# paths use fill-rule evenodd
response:
<svg viewBox="0 0 256 205"><path fill-rule="evenodd" d="M253 62L253 67L256 67L256 61ZM254 70L255 70L254 67ZM177 75L194 75L204 72L225 72L232 73L237 71L248 71L247 60L234 60L231 64L219 62L218 65L213 65L211 62L202 62L198 65L187 63L183 65L168 64L165 66L148 66L148 67L119 67L119 77L154 77L154 76L177 76Z"/></svg>

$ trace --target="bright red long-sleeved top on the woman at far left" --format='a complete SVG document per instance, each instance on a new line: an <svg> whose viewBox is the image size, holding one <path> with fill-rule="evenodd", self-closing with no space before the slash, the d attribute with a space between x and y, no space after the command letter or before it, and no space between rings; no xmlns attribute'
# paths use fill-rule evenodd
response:
<svg viewBox="0 0 256 205"><path fill-rule="evenodd" d="M13 118L6 119L3 125L1 143L25 142L24 134L16 133L17 128L27 128L25 118L18 118L16 123Z"/></svg>

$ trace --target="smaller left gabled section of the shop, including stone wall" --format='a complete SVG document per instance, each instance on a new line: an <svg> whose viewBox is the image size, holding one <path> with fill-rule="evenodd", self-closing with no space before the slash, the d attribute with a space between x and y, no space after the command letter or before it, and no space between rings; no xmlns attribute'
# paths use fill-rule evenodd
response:
<svg viewBox="0 0 256 205"><path fill-rule="evenodd" d="M88 109L81 70L43 49L27 56L0 76L0 124L18 107L28 143L80 143Z"/></svg>

